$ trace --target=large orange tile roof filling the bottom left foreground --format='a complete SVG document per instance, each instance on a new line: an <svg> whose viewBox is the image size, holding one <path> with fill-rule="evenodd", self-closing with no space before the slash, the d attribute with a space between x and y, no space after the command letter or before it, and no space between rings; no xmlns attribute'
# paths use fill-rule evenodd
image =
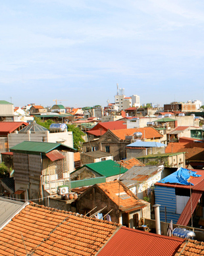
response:
<svg viewBox="0 0 204 256"><path fill-rule="evenodd" d="M0 255L95 255L118 226L31 203L0 231Z"/></svg>

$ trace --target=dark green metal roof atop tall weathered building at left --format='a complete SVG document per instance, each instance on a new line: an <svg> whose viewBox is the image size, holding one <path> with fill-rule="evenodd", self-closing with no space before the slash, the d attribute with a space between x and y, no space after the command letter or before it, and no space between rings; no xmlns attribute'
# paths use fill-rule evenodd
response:
<svg viewBox="0 0 204 256"><path fill-rule="evenodd" d="M27 153L27 154L42 153L43 155L45 155L46 153L48 153L49 151L52 151L53 149L59 149L59 150L69 149L72 152L76 151L76 149L63 145L61 143L38 142L38 141L22 141L18 145L11 147L10 151L17 152L17 153Z"/></svg>

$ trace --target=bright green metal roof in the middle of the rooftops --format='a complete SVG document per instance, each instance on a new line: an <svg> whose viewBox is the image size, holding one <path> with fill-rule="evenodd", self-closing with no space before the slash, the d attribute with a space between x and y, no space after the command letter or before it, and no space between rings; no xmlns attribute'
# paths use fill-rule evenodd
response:
<svg viewBox="0 0 204 256"><path fill-rule="evenodd" d="M113 160L91 163L84 166L88 167L94 172L97 172L98 174L101 174L102 176L105 176L105 177L111 177L118 174L122 174L128 170L123 166L120 166L118 163L116 163ZM83 168L84 166L82 166L81 168ZM80 170L80 168L78 168L78 170ZM74 172L76 172L76 170Z"/></svg>

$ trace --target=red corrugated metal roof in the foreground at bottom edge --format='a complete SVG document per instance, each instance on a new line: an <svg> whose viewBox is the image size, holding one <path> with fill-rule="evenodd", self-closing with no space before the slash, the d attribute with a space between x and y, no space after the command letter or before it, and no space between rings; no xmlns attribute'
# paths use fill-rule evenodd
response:
<svg viewBox="0 0 204 256"><path fill-rule="evenodd" d="M173 256L184 242L171 238L126 228L122 226L101 249L98 256Z"/></svg>

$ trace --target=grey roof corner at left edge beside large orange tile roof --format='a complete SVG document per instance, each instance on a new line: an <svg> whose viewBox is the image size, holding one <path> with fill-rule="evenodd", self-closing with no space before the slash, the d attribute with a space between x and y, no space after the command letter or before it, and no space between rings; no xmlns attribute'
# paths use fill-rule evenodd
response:
<svg viewBox="0 0 204 256"><path fill-rule="evenodd" d="M0 226L3 226L9 219L11 219L14 213L20 211L27 205L21 201L15 201L12 199L0 198Z"/></svg>

